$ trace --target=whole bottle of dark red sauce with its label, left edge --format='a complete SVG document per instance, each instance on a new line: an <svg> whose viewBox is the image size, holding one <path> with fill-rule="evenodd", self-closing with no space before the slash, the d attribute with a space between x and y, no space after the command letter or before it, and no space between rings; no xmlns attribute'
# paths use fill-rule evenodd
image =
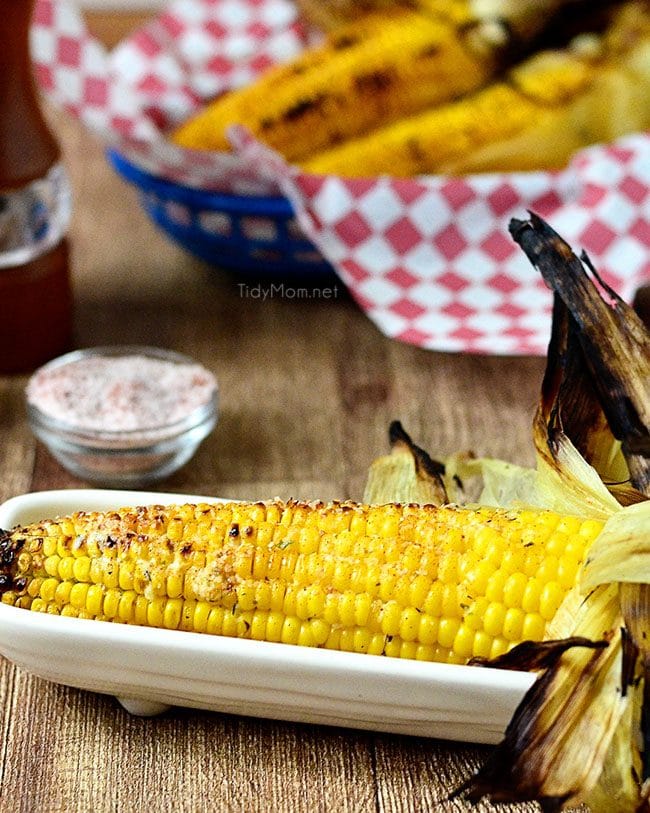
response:
<svg viewBox="0 0 650 813"><path fill-rule="evenodd" d="M68 345L70 189L39 106L29 30L34 0L0 24L0 374L27 372Z"/></svg>

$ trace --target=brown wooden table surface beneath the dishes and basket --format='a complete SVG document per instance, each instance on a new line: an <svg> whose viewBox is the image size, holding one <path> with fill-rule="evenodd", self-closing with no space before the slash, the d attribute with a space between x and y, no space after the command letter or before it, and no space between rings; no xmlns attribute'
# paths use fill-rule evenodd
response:
<svg viewBox="0 0 650 813"><path fill-rule="evenodd" d="M156 231L98 141L66 117L54 123L74 187L75 345L153 343L219 379L215 432L161 490L359 498L393 418L436 455L532 463L542 359L398 344L342 288L327 302L246 298ZM84 485L31 435L25 380L0 378L2 500ZM489 752L183 709L142 719L2 659L0 743L3 813L460 811L448 794Z"/></svg>

